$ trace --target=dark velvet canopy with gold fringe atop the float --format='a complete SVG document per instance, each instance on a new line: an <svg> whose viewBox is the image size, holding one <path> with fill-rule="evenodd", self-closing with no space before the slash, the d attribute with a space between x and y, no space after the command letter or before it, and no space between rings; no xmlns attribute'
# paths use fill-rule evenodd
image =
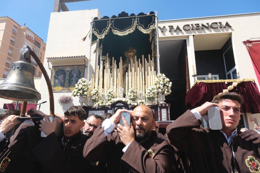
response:
<svg viewBox="0 0 260 173"><path fill-rule="evenodd" d="M90 34L89 34L90 37ZM87 38L84 37L82 40ZM137 58L142 55L155 57L155 14L139 13L138 15L121 12L118 16L104 16L101 19L93 19L92 45L97 43L95 51L102 53L102 57L107 55L126 59L125 52L130 48L134 49ZM102 45L102 47L101 47ZM102 48L102 49L101 49ZM117 61L118 62L118 61Z"/></svg>

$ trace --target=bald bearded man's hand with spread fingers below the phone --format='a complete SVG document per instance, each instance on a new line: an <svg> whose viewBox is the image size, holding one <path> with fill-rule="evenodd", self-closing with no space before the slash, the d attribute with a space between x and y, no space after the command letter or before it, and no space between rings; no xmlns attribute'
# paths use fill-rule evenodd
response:
<svg viewBox="0 0 260 173"><path fill-rule="evenodd" d="M125 124L125 127L123 127L121 124L118 124L117 133L123 144L127 146L127 144L134 141L134 127L132 126L132 123L130 123L129 127L124 117L122 117L122 120Z"/></svg>

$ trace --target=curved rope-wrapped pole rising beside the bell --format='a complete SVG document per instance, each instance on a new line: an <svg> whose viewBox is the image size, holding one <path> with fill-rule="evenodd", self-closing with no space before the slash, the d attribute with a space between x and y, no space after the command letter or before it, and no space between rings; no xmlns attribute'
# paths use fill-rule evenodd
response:
<svg viewBox="0 0 260 173"><path fill-rule="evenodd" d="M52 86L50 83L50 78L48 76L48 73L46 72L41 60L37 57L37 55L34 53L34 51L30 51L31 56L34 58L34 60L36 61L36 63L38 64L38 66L40 67L42 74L45 78L45 81L47 83L47 87L48 87L48 92L49 92L49 98L50 98L50 116L55 116L54 115L54 98L53 98L53 90L52 90Z"/></svg>

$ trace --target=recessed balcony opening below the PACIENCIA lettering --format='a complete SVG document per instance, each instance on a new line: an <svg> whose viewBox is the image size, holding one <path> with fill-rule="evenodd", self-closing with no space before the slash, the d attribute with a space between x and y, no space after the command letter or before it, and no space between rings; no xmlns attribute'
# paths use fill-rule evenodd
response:
<svg viewBox="0 0 260 173"><path fill-rule="evenodd" d="M195 35L193 40L197 80L237 79L231 33Z"/></svg>

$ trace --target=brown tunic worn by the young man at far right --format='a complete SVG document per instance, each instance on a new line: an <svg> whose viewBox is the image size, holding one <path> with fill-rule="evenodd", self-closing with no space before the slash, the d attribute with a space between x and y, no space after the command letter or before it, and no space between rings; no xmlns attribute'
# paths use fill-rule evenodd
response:
<svg viewBox="0 0 260 173"><path fill-rule="evenodd" d="M260 171L259 144L237 135L233 138L233 147L230 149L220 130L201 129L200 124L201 121L188 110L166 128L172 145L189 157L193 172L234 171L234 164L231 164L232 151L238 172ZM241 132L238 131L239 133Z"/></svg>

